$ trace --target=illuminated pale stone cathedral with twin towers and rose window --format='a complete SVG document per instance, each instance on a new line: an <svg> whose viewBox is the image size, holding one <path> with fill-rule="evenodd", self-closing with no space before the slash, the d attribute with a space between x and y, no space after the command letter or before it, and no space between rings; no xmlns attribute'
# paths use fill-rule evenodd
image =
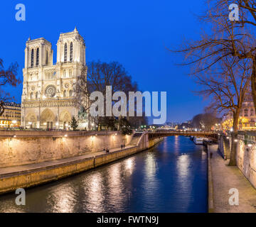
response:
<svg viewBox="0 0 256 227"><path fill-rule="evenodd" d="M28 38L23 68L21 126L24 128L70 129L73 117L78 128L88 129L87 114L80 112L75 94L79 76L86 77L85 40L75 28L60 33L57 61L45 38Z"/></svg>

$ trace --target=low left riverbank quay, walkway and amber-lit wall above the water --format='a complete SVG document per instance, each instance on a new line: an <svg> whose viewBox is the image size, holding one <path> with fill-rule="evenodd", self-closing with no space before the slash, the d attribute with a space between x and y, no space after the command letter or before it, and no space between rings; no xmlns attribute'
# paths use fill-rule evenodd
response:
<svg viewBox="0 0 256 227"><path fill-rule="evenodd" d="M151 140L148 148L161 140L162 138ZM48 162L2 167L0 168L0 194L75 175L146 149L137 145L127 145L122 150L120 148L110 149L110 153L100 151Z"/></svg>

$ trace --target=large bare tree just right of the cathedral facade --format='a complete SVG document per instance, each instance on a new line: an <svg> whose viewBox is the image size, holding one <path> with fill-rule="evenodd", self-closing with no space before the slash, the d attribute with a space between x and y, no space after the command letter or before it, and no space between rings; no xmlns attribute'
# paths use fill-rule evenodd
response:
<svg viewBox="0 0 256 227"><path fill-rule="evenodd" d="M77 84L75 84L78 104L82 106L85 111L90 109L92 103L89 97L94 91L102 92L105 96L106 103L107 86L112 86L112 94L117 91L122 91L128 96L129 92L137 91L137 84L132 82L132 77L129 76L119 62L89 62L85 71L78 77ZM114 104L114 102L112 104ZM104 114L106 114L105 110ZM92 118L92 121L97 124L98 129L103 125L107 126L108 120L110 121L110 125L112 125L113 116L105 119L99 116ZM112 128L112 126L110 128Z"/></svg>

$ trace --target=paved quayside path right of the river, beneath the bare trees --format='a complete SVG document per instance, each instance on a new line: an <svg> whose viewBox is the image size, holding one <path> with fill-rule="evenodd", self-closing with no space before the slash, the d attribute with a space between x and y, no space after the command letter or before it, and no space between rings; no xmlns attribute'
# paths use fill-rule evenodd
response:
<svg viewBox="0 0 256 227"><path fill-rule="evenodd" d="M254 213L256 212L256 189L242 175L238 167L229 167L228 161L217 151L212 150L210 167L213 177L213 208L215 213ZM231 188L239 191L239 205L230 206L228 194Z"/></svg>

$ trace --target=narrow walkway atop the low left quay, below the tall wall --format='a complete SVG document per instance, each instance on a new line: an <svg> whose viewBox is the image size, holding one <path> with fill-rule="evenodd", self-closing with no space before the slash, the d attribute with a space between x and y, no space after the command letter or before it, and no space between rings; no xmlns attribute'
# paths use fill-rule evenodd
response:
<svg viewBox="0 0 256 227"><path fill-rule="evenodd" d="M128 148L133 148L133 147L136 147L136 146L127 145L122 150L125 150L125 149L128 149ZM110 149L110 153L118 151L118 150L120 150L120 148ZM55 167L56 165L68 165L68 164L73 163L73 162L80 162L80 161L85 160L87 158L95 157L95 156L98 156L98 155L104 155L104 154L106 154L106 152L102 150L102 151L98 151L98 152L95 152L95 153L90 153L90 154L87 154L87 155L68 157L68 158L64 158L64 159L60 159L60 160L40 162L40 163L36 163L36 164L20 165L20 166L17 166L17 167L2 167L2 168L0 168L0 178L14 176L14 175L21 175L21 174L24 174L26 172L36 172L38 170L42 170L42 169L46 169L46 168L50 168L50 167Z"/></svg>

